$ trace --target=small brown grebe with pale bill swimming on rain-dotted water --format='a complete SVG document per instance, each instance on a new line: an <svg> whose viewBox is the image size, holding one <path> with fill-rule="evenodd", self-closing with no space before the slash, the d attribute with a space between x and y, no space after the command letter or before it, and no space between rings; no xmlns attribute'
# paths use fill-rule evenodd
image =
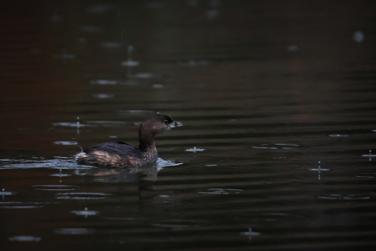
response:
<svg viewBox="0 0 376 251"><path fill-rule="evenodd" d="M106 168L139 167L158 159L154 136L182 126L165 114L152 114L138 130L139 147L124 142L108 142L83 149L76 155L77 164Z"/></svg>

